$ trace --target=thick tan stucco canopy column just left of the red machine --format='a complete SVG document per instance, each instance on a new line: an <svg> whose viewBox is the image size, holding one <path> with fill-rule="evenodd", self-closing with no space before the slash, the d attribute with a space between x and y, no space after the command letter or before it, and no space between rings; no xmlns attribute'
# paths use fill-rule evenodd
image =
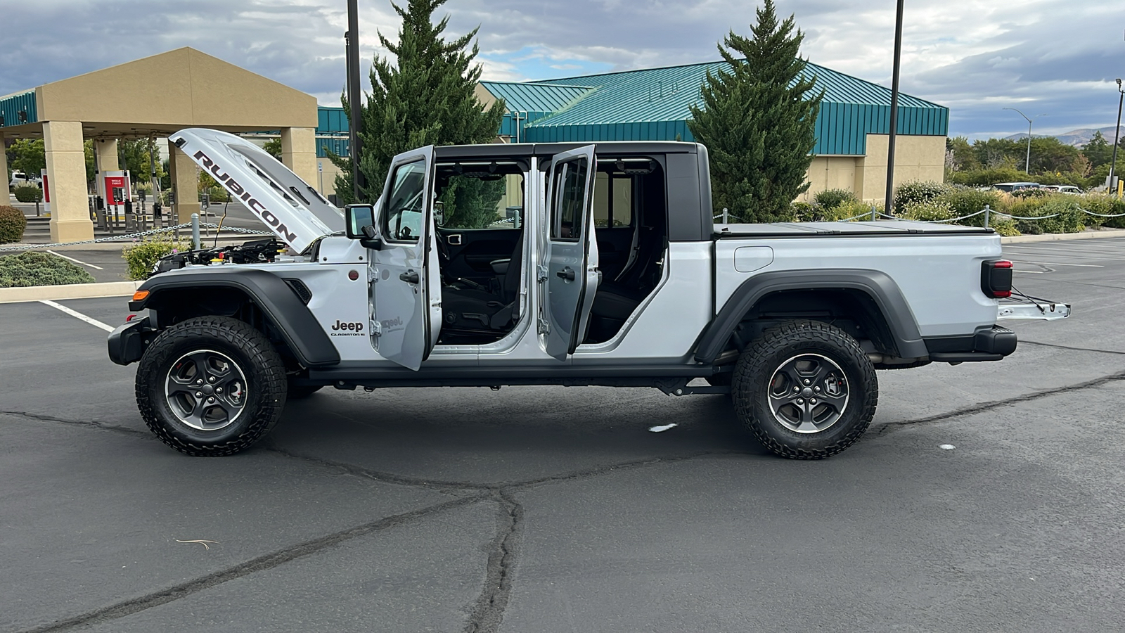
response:
<svg viewBox="0 0 1125 633"><path fill-rule="evenodd" d="M51 241L93 239L90 203L86 197L86 155L82 124L50 121L43 124L47 151L47 182L51 187Z"/></svg>

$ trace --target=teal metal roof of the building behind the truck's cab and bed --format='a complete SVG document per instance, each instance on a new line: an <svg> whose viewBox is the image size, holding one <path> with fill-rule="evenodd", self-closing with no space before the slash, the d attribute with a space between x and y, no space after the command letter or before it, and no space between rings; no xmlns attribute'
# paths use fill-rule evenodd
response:
<svg viewBox="0 0 1125 633"><path fill-rule="evenodd" d="M674 141L678 136L693 141L686 124L691 118L688 108L700 102L706 71L720 72L724 68L726 62L710 62L505 86L585 90L550 116L532 119L521 140ZM806 72L816 75L817 87L825 90L813 153L862 155L866 153L866 134L888 133L890 89L812 63ZM493 92L487 83L498 82L482 83ZM948 108L899 95L899 134L944 136L948 121Z"/></svg>

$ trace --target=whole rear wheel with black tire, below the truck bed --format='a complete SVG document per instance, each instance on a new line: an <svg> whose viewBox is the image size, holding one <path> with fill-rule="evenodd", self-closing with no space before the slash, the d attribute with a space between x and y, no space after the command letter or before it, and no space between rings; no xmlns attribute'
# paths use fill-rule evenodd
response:
<svg viewBox="0 0 1125 633"><path fill-rule="evenodd" d="M822 460L855 444L875 416L879 382L860 344L819 321L771 328L742 351L731 394L766 448Z"/></svg>

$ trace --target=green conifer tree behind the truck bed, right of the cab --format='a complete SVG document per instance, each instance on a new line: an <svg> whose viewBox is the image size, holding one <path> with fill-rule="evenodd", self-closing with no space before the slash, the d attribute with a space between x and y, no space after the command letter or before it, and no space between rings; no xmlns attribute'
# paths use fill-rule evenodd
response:
<svg viewBox="0 0 1125 633"><path fill-rule="evenodd" d="M692 106L687 126L710 154L716 213L776 222L790 219L793 198L809 189L824 91L813 93L816 77L804 75L804 35L793 16L778 24L773 0L756 12L750 37L730 32L719 45L729 70L708 71L703 107Z"/></svg>

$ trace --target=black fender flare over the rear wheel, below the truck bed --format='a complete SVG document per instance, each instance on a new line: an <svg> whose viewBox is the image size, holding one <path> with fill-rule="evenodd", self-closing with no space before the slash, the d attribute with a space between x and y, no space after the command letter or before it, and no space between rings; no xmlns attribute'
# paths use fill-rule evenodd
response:
<svg viewBox="0 0 1125 633"><path fill-rule="evenodd" d="M738 286L719 314L703 330L695 347L695 360L714 363L722 354L735 328L762 297L777 291L856 289L875 302L890 328L902 358L928 356L910 304L894 279L881 270L829 268L811 270L771 270L755 275Z"/></svg>

